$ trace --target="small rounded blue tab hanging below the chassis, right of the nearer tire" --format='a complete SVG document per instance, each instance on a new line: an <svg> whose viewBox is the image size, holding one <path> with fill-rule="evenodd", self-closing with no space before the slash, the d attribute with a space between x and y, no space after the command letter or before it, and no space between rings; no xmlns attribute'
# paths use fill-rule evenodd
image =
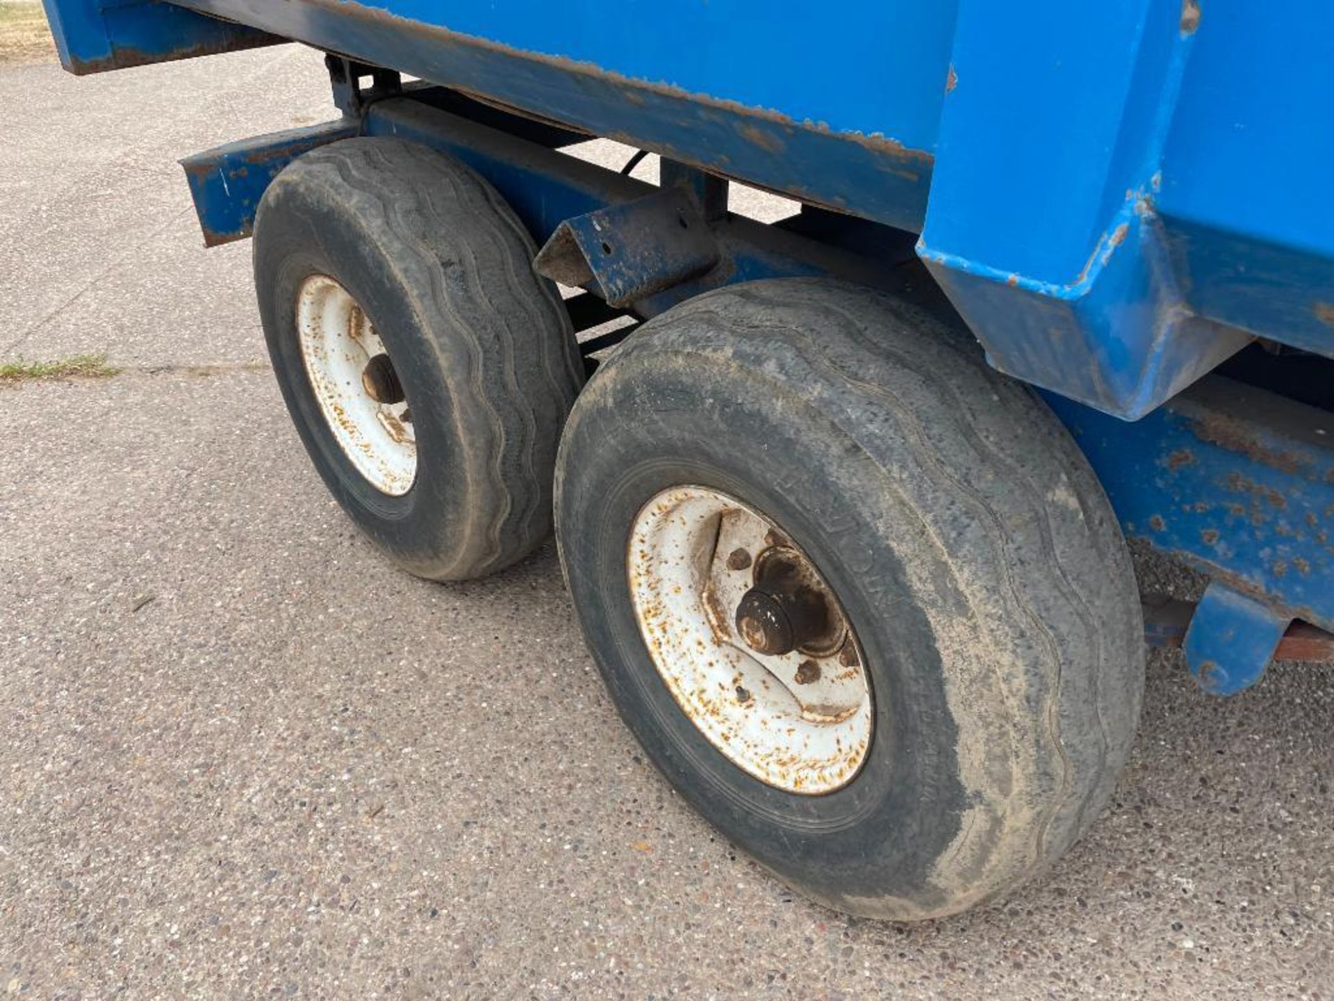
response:
<svg viewBox="0 0 1334 1001"><path fill-rule="evenodd" d="M1249 689L1265 674L1290 622L1290 617L1215 581L1186 630L1186 666L1211 695Z"/></svg>

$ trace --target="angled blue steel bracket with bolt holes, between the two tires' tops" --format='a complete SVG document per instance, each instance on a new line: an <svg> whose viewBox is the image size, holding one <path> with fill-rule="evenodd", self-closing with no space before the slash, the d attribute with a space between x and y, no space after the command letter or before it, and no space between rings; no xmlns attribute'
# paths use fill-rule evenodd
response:
<svg viewBox="0 0 1334 1001"><path fill-rule="evenodd" d="M720 259L699 202L688 188L674 187L566 219L534 267L552 282L590 288L608 306L626 308L712 270Z"/></svg>

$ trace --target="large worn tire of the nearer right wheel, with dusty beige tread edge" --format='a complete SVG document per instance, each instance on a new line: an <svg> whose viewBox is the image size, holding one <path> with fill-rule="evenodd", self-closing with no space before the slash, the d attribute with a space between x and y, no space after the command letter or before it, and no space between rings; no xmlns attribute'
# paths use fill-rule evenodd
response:
<svg viewBox="0 0 1334 1001"><path fill-rule="evenodd" d="M856 630L875 733L842 789L751 778L658 675L626 550L640 507L683 483L772 519ZM1143 627L1098 480L1033 392L892 298L755 282L644 324L566 426L556 538L588 646L652 761L839 910L918 920L1014 888L1102 810L1129 753Z"/></svg>

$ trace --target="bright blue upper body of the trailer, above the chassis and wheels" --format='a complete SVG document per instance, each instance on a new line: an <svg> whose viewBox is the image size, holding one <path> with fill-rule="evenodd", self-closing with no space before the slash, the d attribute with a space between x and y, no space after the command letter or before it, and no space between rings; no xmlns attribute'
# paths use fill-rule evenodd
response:
<svg viewBox="0 0 1334 1001"><path fill-rule="evenodd" d="M1254 334L1334 352L1325 0L48 3L79 59L235 41L188 7L924 228L992 364L1123 418Z"/></svg>

